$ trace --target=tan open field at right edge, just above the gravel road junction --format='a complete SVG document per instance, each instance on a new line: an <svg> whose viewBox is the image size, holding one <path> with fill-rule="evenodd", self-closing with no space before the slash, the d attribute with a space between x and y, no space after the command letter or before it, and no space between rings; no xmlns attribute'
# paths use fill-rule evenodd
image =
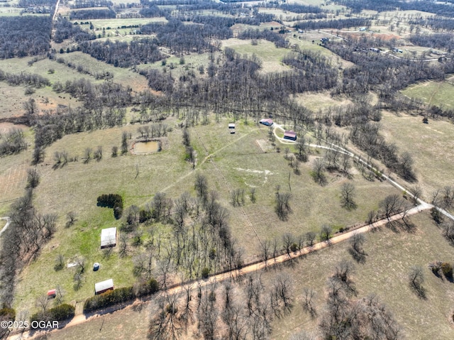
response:
<svg viewBox="0 0 454 340"><path fill-rule="evenodd" d="M421 116L396 116L383 112L382 130L387 141L413 155L414 168L424 197L430 200L436 189L454 183L454 125L444 120L429 118L423 124Z"/></svg>

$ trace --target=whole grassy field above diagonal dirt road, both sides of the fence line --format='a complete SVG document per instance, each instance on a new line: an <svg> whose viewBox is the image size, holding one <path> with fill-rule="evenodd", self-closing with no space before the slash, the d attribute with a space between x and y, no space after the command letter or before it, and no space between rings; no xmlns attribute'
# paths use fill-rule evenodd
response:
<svg viewBox="0 0 454 340"><path fill-rule="evenodd" d="M212 119L209 126L190 129L192 145L197 151L198 171L206 175L210 189L219 193L219 201L230 211L232 234L238 245L245 250L245 261L252 261L259 251L260 241L280 238L285 232L294 235L307 231L319 231L322 224L333 230L365 221L367 212L377 209L378 202L387 194L398 193L386 182L367 182L360 175L353 175L356 186L358 209L350 212L341 207L340 192L343 182L348 180L336 174L328 174L328 185L320 187L311 179L311 163L301 165L301 174L296 175L284 160L284 153L264 153L257 140L267 138L267 128L257 128L237 122L237 133L231 135L228 119L216 124ZM173 126L175 121L167 121ZM96 207L99 194L119 193L123 196L125 209L131 204L143 206L150 202L156 192L165 192L167 197L176 198L184 191L194 195L194 170L183 160L184 148L181 131L175 129L169 136L169 147L151 155L123 155L111 158L112 146L119 146L122 131L135 130L138 126L124 126L91 133L65 136L46 148L43 165L38 166L41 180L35 189L35 206L43 213L59 216L59 229L43 253L23 270L17 286L16 305L18 310L33 305L36 297L55 285L61 285L69 302L83 300L92 294L93 283L114 278L117 287L131 285L133 278L131 257L120 260L116 253L105 258L99 249L101 229L120 226L111 209ZM81 159L86 148L102 146L104 157L84 164ZM282 147L283 149L284 147ZM70 157L79 156L63 168L55 169L53 155L66 150ZM211 161L206 158L210 155ZM314 153L314 157L321 154ZM136 166L139 175L135 178ZM6 171L9 169L5 166ZM274 195L277 185L282 192L289 191L288 178L291 173L291 206L293 213L288 221L280 221L274 212ZM354 172L353 172L354 173ZM165 174L165 176L162 176ZM18 193L23 192L23 182ZM257 203L248 198L250 187L256 187ZM246 192L244 207L231 207L230 192L243 188ZM65 215L77 214L77 223L65 229ZM153 228L170 236L170 226L155 225ZM167 237L167 236L165 236ZM84 256L89 266L94 262L103 265L101 272L89 271L80 290L72 285L72 270L53 270L57 254L65 256L67 262L75 256ZM132 256L133 253L131 253ZM102 275L101 275L102 274ZM101 277L102 276L102 277ZM32 280L33 278L33 280ZM39 283L39 284L38 284Z"/></svg>

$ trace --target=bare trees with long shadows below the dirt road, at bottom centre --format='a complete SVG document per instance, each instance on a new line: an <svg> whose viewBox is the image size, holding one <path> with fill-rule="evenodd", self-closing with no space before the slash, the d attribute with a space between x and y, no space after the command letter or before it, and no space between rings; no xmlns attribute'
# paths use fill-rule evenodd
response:
<svg viewBox="0 0 454 340"><path fill-rule="evenodd" d="M270 339L272 319L292 309L293 300L292 280L285 274L271 287L259 275L248 276L241 286L231 281L187 286L179 294L165 292L153 304L148 339L181 339L192 324L207 340Z"/></svg>

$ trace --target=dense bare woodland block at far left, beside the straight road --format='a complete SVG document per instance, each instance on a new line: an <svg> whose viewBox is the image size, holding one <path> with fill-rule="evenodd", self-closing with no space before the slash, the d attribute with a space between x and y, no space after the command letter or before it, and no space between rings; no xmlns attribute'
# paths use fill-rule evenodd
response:
<svg viewBox="0 0 454 340"><path fill-rule="evenodd" d="M0 17L0 59L48 52L50 16Z"/></svg>

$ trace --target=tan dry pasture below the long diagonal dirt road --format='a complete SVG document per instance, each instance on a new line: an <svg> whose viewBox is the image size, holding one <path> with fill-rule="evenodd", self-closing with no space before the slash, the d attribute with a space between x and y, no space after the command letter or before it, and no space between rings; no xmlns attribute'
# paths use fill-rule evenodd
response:
<svg viewBox="0 0 454 340"><path fill-rule="evenodd" d="M358 297L353 299L375 293L394 314L406 339L425 340L433 334L440 340L452 339L454 328L450 318L453 313L451 302L454 298L454 284L437 278L427 265L436 260L450 261L453 248L443 239L427 213L415 215L411 221L416 225L414 234L394 233L385 227L366 234L366 262L355 263L353 281ZM284 317L274 319L270 339L288 340L289 336L298 331L316 329L326 303L326 280L341 259L351 260L348 248L348 242L339 243L289 265L280 265L276 269L258 273L261 274L265 287L271 287L277 275L285 273L289 274L292 281L293 307ZM409 287L408 273L414 265L423 268L426 300L416 297ZM243 290L241 283L241 280L233 283L234 289ZM316 292L316 319L312 319L301 307L304 287ZM195 290L192 295L195 300ZM219 296L223 296L222 287L219 288ZM153 300L138 308L128 307L74 327L51 331L48 339L76 340L82 336L90 339L145 339L148 322L152 317ZM182 334L179 339L198 338L189 332Z"/></svg>

